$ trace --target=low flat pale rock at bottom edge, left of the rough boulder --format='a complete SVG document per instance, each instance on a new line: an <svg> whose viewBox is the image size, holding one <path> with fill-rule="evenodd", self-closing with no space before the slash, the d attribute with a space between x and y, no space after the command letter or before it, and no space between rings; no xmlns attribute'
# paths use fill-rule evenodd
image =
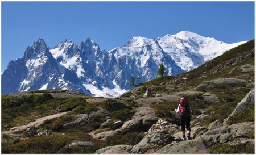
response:
<svg viewBox="0 0 256 155"><path fill-rule="evenodd" d="M131 145L115 145L109 146L106 148L102 148L97 150L95 153L97 154L129 154L133 146Z"/></svg>

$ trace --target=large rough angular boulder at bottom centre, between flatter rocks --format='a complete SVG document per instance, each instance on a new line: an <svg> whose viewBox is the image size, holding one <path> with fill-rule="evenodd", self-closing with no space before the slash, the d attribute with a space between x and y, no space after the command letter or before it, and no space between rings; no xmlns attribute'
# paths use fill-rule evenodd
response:
<svg viewBox="0 0 256 155"><path fill-rule="evenodd" d="M130 153L148 153L155 152L164 145L170 144L174 141L174 137L170 136L168 131L162 130L153 132L145 136L137 145L133 146Z"/></svg>

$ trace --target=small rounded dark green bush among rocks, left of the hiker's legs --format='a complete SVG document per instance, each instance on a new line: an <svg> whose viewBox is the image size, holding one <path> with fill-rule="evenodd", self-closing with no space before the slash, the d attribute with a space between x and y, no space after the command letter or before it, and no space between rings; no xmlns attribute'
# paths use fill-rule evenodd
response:
<svg viewBox="0 0 256 155"><path fill-rule="evenodd" d="M130 119L131 116L135 114L136 110L135 109L121 109L118 111L113 111L110 113L110 118L114 120L122 120L126 121L127 119Z"/></svg>

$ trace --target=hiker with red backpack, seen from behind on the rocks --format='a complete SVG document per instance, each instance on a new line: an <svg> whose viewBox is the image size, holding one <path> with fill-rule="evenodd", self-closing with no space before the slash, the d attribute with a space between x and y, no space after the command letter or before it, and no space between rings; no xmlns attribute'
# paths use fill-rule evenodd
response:
<svg viewBox="0 0 256 155"><path fill-rule="evenodd" d="M180 99L180 104L177 107L177 109L175 109L175 112L178 114L180 114L180 120L181 120L181 131L183 133L183 139L182 140L186 140L186 135L185 135L185 125L186 125L186 129L187 129L187 137L189 140L191 140L190 137L190 132L191 132L191 128L190 128L190 114L192 114L192 110L191 107L189 106L188 100L185 98L181 98Z"/></svg>

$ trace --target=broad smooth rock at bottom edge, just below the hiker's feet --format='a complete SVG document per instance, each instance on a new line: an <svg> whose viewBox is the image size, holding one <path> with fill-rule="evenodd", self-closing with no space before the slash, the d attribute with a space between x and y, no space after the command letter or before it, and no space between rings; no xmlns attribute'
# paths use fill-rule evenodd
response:
<svg viewBox="0 0 256 155"><path fill-rule="evenodd" d="M184 149L185 148L185 149ZM168 153L168 154L181 154L181 153L196 153L196 154L201 154L201 153L209 153L209 150L205 147L203 141L199 139L194 139L194 140L186 140L186 141L181 141L180 143L175 143L175 144L168 144L158 150L155 153Z"/></svg>

